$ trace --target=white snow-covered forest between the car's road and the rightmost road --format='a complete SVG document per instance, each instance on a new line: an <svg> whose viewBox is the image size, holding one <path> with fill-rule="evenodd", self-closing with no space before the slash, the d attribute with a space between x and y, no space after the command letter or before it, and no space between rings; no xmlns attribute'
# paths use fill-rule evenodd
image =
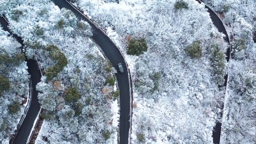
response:
<svg viewBox="0 0 256 144"><path fill-rule="evenodd" d="M134 88L132 143L210 144L223 104L223 35L194 0L73 1L122 49ZM137 47L139 50L134 50Z"/></svg>

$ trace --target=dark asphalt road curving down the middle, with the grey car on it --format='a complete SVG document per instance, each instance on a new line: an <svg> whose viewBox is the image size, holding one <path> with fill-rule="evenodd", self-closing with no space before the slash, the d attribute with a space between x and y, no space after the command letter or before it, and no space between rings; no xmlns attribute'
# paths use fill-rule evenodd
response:
<svg viewBox="0 0 256 144"><path fill-rule="evenodd" d="M112 63L113 67L118 70L117 64L122 63L124 67L124 73L116 73L116 79L118 81L119 92L120 92L120 124L119 124L119 143L128 144L129 140L129 129L130 129L130 77L126 61L122 56L122 53L118 47L110 40L110 38L98 28L92 21L86 16L80 13L80 11L70 5L66 0L52 0L59 8L66 8L71 10L79 20L84 20L92 27L92 40L98 44L102 49L108 60Z"/></svg>

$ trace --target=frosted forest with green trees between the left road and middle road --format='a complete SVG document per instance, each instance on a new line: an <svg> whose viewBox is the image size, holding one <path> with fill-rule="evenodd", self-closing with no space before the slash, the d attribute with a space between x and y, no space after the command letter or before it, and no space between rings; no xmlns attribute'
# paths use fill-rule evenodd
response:
<svg viewBox="0 0 256 144"><path fill-rule="evenodd" d="M4 0L2 6L43 74L36 88L44 122L36 143L116 143L116 71L90 40L89 24L49 0Z"/></svg>

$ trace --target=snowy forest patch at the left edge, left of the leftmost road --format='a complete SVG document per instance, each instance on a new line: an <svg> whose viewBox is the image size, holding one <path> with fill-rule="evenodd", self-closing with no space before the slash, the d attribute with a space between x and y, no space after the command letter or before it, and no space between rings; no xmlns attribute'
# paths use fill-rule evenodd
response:
<svg viewBox="0 0 256 144"><path fill-rule="evenodd" d="M8 144L26 108L29 76L21 45L0 26L0 143Z"/></svg>

